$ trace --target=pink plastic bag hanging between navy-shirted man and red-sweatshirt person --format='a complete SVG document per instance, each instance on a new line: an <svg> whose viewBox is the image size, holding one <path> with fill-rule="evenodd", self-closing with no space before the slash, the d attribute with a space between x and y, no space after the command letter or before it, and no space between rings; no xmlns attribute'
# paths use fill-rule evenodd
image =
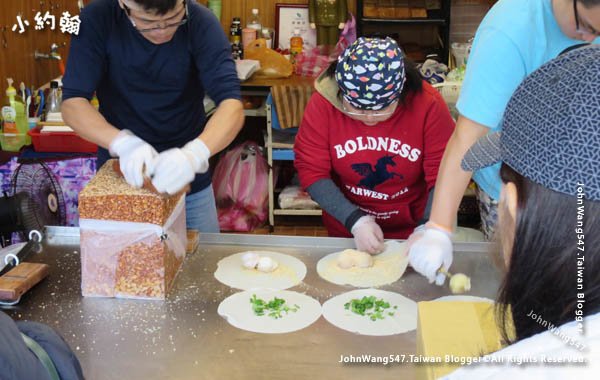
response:
<svg viewBox="0 0 600 380"><path fill-rule="evenodd" d="M269 167L253 141L223 156L213 174L219 226L223 231L251 231L267 220Z"/></svg>

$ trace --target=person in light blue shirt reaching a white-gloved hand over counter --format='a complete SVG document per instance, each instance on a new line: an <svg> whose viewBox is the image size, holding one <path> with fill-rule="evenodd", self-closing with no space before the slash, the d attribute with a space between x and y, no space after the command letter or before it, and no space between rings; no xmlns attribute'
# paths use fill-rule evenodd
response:
<svg viewBox="0 0 600 380"><path fill-rule="evenodd" d="M499 0L485 16L469 54L456 105L460 116L440 165L430 220L411 237L410 262L430 282L443 284L437 270L452 264L451 236L471 177L484 235L489 240L494 234L500 166L467 173L460 168L464 153L501 129L508 99L528 74L561 52L599 42L599 31L600 0Z"/></svg>

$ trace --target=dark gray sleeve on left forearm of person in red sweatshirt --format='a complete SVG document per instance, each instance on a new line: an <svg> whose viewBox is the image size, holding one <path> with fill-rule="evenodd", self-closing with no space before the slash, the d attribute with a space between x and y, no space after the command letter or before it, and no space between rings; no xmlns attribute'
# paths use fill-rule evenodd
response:
<svg viewBox="0 0 600 380"><path fill-rule="evenodd" d="M348 231L361 216L366 215L342 194L342 191L331 179L318 180L306 191L323 210L346 226Z"/></svg>

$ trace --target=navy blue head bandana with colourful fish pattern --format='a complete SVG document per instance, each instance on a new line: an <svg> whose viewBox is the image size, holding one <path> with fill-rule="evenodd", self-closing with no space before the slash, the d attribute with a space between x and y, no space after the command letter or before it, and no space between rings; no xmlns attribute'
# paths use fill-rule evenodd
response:
<svg viewBox="0 0 600 380"><path fill-rule="evenodd" d="M402 51L389 37L360 37L339 56L335 79L353 107L385 108L399 98L406 81Z"/></svg>

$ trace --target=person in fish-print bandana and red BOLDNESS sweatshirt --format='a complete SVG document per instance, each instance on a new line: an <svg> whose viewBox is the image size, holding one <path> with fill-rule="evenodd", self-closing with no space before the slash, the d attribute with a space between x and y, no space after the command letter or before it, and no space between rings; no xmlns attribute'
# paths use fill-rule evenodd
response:
<svg viewBox="0 0 600 380"><path fill-rule="evenodd" d="M454 121L391 38L359 38L315 89L294 144L300 184L330 236L380 252L427 219Z"/></svg>

